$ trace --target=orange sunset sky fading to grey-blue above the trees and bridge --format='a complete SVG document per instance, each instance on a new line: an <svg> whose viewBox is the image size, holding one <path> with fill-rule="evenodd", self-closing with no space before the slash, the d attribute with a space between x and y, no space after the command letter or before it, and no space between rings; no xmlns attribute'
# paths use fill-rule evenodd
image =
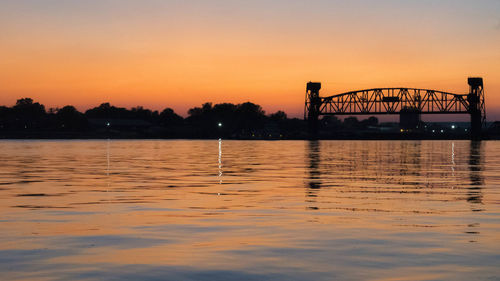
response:
<svg viewBox="0 0 500 281"><path fill-rule="evenodd" d="M0 104L187 110L260 104L301 117L374 87L465 94L500 120L500 1L0 0Z"/></svg>

